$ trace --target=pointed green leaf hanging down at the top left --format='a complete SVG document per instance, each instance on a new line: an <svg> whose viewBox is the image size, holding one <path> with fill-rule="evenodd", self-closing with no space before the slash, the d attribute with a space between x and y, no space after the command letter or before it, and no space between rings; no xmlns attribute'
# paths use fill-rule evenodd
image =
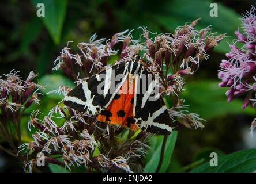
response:
<svg viewBox="0 0 256 184"><path fill-rule="evenodd" d="M36 7L40 0L31 0L32 5ZM67 0L48 0L43 1L45 7L45 17L42 18L44 25L50 33L55 44L59 44L63 22L65 20ZM37 10L37 8L36 8Z"/></svg>

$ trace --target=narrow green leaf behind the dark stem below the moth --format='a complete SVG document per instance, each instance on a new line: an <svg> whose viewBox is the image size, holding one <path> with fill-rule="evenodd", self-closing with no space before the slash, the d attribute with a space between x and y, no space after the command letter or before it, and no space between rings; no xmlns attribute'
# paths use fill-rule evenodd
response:
<svg viewBox="0 0 256 184"><path fill-rule="evenodd" d="M170 164L171 161L171 156L172 156L172 152L174 151L174 147L175 147L175 143L176 143L176 139L178 136L178 132L174 131L171 133L170 136L168 136L167 138L167 142L165 145L165 150L164 150L164 159L163 159L163 164L160 168L160 172L165 172L168 169L168 166ZM144 168L145 172L155 172L157 165L159 163L159 159L160 159L160 153L161 153L161 146L163 143L163 138L164 136L154 136L152 137L152 139L150 140L150 147L152 148L153 152L149 152L150 156L150 160L148 163L146 163L146 166ZM160 144L159 144L160 142ZM158 143L158 144L156 144ZM147 156L148 157L148 156Z"/></svg>

